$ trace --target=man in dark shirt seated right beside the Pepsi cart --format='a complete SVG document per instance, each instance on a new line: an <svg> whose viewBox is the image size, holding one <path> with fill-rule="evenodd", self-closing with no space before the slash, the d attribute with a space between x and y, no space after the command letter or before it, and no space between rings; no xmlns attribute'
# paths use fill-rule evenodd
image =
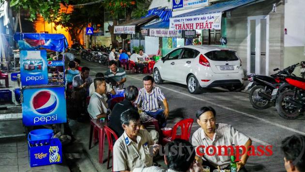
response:
<svg viewBox="0 0 305 172"><path fill-rule="evenodd" d="M92 79L89 77L90 69L88 67L82 67L81 73L73 78L73 93L72 98L75 99L77 111L81 116L84 116L84 108L86 105L86 98L89 96L89 85L92 83Z"/></svg>

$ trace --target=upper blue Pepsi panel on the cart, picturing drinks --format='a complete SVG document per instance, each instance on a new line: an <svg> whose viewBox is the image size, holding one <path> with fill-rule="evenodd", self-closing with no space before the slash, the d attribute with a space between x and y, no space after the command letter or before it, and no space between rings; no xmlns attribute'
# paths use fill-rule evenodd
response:
<svg viewBox="0 0 305 172"><path fill-rule="evenodd" d="M46 50L20 51L22 86L47 84Z"/></svg>

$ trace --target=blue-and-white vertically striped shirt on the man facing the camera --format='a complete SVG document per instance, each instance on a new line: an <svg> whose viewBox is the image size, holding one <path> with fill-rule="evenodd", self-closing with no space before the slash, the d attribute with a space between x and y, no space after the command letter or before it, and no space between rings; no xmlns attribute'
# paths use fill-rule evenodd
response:
<svg viewBox="0 0 305 172"><path fill-rule="evenodd" d="M165 99L164 94L162 93L159 87L153 86L152 93L147 93L145 88L141 88L137 96L135 103L140 104L141 108L145 111L152 111L160 109L159 100L163 101Z"/></svg>

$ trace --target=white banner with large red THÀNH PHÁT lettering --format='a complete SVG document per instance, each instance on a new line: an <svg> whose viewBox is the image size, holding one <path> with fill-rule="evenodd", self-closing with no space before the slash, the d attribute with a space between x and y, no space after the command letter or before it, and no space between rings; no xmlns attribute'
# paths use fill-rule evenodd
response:
<svg viewBox="0 0 305 172"><path fill-rule="evenodd" d="M221 29L221 13L169 18L169 30Z"/></svg>

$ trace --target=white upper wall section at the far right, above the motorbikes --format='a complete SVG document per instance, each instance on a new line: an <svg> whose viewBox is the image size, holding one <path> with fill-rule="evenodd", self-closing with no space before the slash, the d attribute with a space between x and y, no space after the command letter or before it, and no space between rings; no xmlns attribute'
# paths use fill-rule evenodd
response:
<svg viewBox="0 0 305 172"><path fill-rule="evenodd" d="M305 0L285 0L284 47L305 46Z"/></svg>

